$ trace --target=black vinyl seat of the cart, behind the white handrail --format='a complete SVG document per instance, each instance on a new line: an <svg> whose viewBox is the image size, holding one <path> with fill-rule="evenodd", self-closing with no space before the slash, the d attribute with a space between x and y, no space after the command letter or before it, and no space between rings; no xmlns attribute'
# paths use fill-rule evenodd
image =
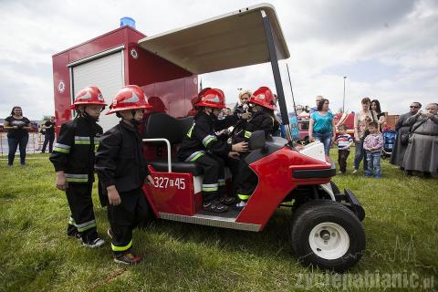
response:
<svg viewBox="0 0 438 292"><path fill-rule="evenodd" d="M179 144L193 125L193 117L175 119L163 112L152 112L145 121L144 137L146 139L164 138L171 144ZM151 142L162 143L162 142ZM167 172L166 161L149 162L159 172ZM172 161L172 172L192 172L194 176L202 175L203 168L193 162Z"/></svg>

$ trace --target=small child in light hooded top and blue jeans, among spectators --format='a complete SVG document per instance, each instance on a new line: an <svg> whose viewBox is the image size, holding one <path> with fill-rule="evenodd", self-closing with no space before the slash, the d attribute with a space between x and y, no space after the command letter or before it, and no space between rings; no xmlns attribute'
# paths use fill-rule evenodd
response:
<svg viewBox="0 0 438 292"><path fill-rule="evenodd" d="M381 149L383 148L383 136L379 132L379 125L375 121L371 121L368 125L370 135L363 141L363 149L368 164L366 176L375 175L376 179L381 178Z"/></svg>

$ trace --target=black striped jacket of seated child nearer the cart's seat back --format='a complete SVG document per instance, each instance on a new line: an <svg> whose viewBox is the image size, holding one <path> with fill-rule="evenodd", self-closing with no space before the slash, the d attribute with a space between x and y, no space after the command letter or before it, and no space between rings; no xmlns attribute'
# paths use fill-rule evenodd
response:
<svg viewBox="0 0 438 292"><path fill-rule="evenodd" d="M194 162L203 153L213 153L226 156L231 151L231 144L218 140L215 132L231 127L238 120L236 116L226 116L224 120L217 120L205 112L199 112L193 120L193 126L187 132L178 151L178 159L185 162Z"/></svg>

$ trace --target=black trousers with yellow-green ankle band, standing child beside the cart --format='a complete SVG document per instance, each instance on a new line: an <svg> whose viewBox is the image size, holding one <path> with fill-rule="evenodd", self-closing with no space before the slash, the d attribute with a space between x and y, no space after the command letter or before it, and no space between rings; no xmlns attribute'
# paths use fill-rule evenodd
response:
<svg viewBox="0 0 438 292"><path fill-rule="evenodd" d="M144 226L148 203L141 188L119 193L121 203L108 205L108 220L112 231L111 248L115 255L124 254L132 247L132 230Z"/></svg>

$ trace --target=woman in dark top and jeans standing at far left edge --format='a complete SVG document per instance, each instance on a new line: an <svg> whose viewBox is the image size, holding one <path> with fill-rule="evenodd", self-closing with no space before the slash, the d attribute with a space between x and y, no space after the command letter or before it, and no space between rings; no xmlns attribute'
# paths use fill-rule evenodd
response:
<svg viewBox="0 0 438 292"><path fill-rule="evenodd" d="M26 165L26 145L29 141L30 120L23 117L21 107L12 108L11 115L5 119L5 130L7 130L7 144L9 153L7 165L12 166L16 158L16 148L19 146L21 165Z"/></svg>

